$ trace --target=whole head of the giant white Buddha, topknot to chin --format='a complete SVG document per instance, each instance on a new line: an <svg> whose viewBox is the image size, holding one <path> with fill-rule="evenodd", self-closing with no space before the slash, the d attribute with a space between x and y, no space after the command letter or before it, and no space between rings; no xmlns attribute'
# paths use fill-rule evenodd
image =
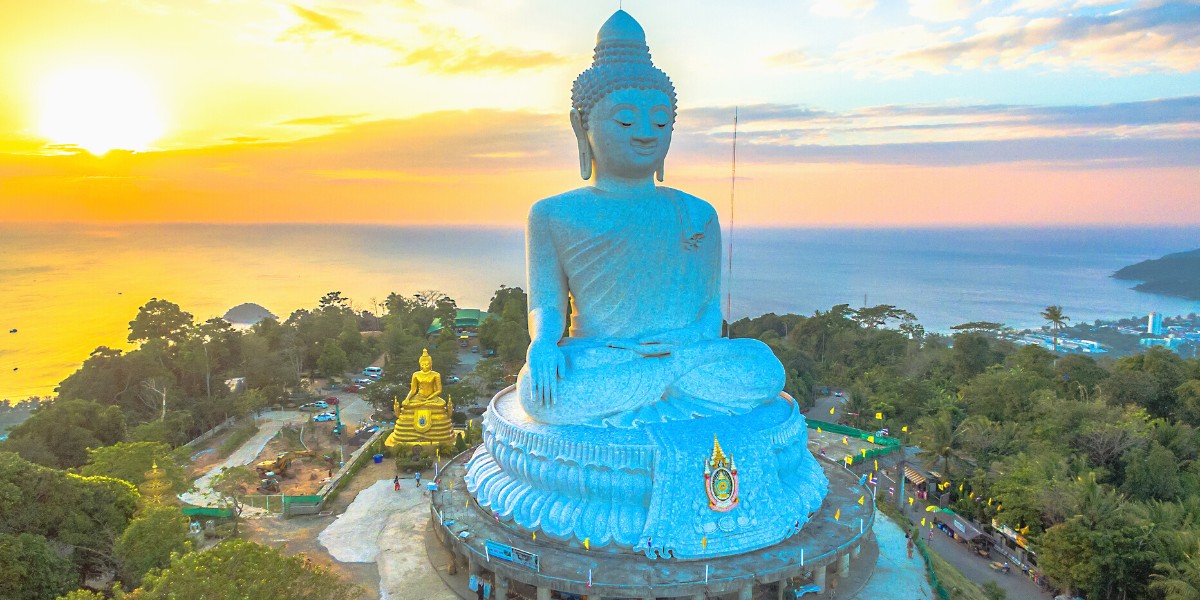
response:
<svg viewBox="0 0 1200 600"><path fill-rule="evenodd" d="M617 11L596 35L592 67L571 89L571 127L580 145L580 175L628 179L658 174L674 128L674 86L650 61L646 32Z"/></svg>

